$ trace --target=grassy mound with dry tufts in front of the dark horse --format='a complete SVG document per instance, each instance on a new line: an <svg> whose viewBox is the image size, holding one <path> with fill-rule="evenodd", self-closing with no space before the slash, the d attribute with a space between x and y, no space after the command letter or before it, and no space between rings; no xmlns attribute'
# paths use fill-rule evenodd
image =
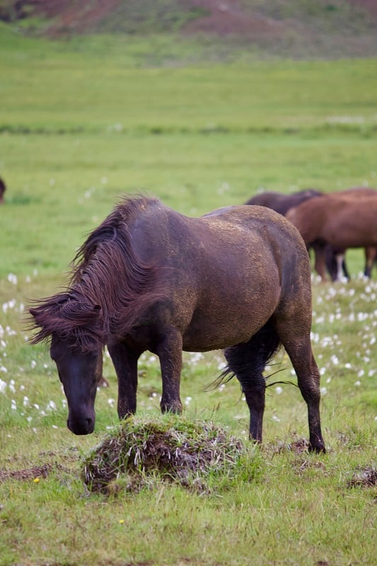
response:
<svg viewBox="0 0 377 566"><path fill-rule="evenodd" d="M173 415L149 422L129 419L88 454L82 475L91 491L108 494L139 491L161 480L209 492L239 472L255 476L256 461L247 450L211 422Z"/></svg>

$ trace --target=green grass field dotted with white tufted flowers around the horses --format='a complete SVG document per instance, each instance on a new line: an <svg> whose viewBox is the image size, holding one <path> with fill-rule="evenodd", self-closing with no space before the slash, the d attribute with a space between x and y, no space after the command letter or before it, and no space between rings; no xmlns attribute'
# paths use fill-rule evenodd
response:
<svg viewBox="0 0 377 566"><path fill-rule="evenodd" d="M167 36L47 42L12 29L0 27L0 565L373 566L376 483L349 484L377 466L377 280L359 276L361 250L347 253L348 284L313 277L327 454L297 448L305 403L272 386L253 473L210 495L162 482L88 492L81 458L117 423L115 371L105 356L95 433L74 437L24 317L124 193L199 215L262 188L376 187L376 60L187 64L199 47ZM222 361L184 354L185 416L245 439L238 383L204 392ZM274 363L272 380L294 381L284 352ZM138 417L157 419L158 362L139 369Z"/></svg>

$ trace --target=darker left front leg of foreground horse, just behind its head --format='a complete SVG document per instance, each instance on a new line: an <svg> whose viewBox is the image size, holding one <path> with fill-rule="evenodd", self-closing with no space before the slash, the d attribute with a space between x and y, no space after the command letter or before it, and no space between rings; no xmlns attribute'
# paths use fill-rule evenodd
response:
<svg viewBox="0 0 377 566"><path fill-rule="evenodd" d="M118 379L118 415L120 419L136 412L137 361L141 351L132 350L122 342L108 345Z"/></svg>

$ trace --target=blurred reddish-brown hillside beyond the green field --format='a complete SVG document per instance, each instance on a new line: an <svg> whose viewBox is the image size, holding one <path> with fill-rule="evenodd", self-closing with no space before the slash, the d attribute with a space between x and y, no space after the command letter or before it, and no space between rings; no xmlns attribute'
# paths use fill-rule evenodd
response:
<svg viewBox="0 0 377 566"><path fill-rule="evenodd" d="M50 37L173 33L220 58L377 55L377 0L0 0L0 19Z"/></svg>

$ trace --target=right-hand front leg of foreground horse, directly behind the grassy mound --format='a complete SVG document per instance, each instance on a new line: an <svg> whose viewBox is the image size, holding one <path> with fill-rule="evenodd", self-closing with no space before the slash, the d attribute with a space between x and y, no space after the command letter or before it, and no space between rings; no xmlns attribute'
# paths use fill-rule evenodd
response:
<svg viewBox="0 0 377 566"><path fill-rule="evenodd" d="M162 412L182 412L180 400L180 371L182 369L182 335L178 330L170 330L161 342L156 353L160 359L162 376Z"/></svg>

